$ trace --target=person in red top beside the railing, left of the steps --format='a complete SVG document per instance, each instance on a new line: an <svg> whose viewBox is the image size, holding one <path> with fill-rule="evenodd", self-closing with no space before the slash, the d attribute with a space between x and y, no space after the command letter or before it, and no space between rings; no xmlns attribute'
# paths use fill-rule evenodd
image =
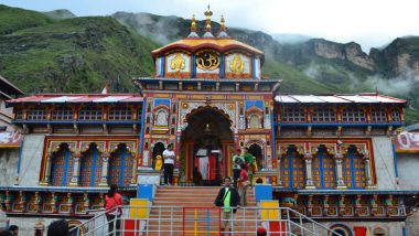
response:
<svg viewBox="0 0 419 236"><path fill-rule="evenodd" d="M114 225L116 226L116 235L119 236L122 208L122 196L117 193L118 185L111 184L108 193L105 196L106 218L108 219L108 232L114 233Z"/></svg>

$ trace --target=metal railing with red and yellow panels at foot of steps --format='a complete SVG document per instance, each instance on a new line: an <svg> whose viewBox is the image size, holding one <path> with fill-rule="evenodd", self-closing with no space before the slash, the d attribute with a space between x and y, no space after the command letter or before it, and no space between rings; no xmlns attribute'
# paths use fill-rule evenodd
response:
<svg viewBox="0 0 419 236"><path fill-rule="evenodd" d="M222 207L120 207L122 215L106 216L103 211L73 228L71 235L255 235L258 227L265 227L268 235L277 236L340 236L339 233L288 207L243 207L236 214L225 213L224 210L233 208Z"/></svg>

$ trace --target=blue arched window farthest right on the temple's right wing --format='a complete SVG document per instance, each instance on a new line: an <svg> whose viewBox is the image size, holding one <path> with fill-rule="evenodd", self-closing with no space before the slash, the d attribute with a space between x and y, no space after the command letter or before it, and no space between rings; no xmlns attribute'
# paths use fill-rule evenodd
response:
<svg viewBox="0 0 419 236"><path fill-rule="evenodd" d="M365 163L354 146L350 147L343 159L343 179L348 189L365 189Z"/></svg>

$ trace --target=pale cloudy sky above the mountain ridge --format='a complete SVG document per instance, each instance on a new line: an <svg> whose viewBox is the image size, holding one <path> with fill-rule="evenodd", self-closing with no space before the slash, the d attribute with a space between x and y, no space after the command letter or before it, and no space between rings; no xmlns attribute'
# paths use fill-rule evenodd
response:
<svg viewBox="0 0 419 236"><path fill-rule="evenodd" d="M213 20L226 26L269 34L302 34L339 43L356 42L368 53L396 37L419 35L416 0L0 0L35 11L67 9L77 17L117 11L149 12L203 20L207 4Z"/></svg>

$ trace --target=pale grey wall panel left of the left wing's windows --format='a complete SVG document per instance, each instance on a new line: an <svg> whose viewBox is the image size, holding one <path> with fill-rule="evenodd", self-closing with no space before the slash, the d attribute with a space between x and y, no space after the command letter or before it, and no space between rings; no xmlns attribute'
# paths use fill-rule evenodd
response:
<svg viewBox="0 0 419 236"><path fill-rule="evenodd" d="M24 137L19 185L39 185L44 139L45 135L26 135Z"/></svg>

